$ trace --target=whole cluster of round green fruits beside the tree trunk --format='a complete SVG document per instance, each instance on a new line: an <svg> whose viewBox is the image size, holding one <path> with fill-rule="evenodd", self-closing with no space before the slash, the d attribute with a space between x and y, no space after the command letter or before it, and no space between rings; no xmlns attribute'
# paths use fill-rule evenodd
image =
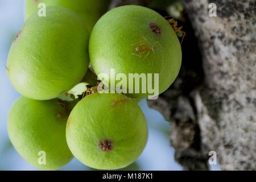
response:
<svg viewBox="0 0 256 182"><path fill-rule="evenodd" d="M39 2L51 5L45 17L30 15ZM86 80L89 60L97 75L110 68L125 74L159 73L160 93L179 72L180 43L166 19L146 7L122 6L94 26L104 10L100 5L105 6L105 0L28 1L29 18L11 45L7 74L23 97L10 110L9 137L16 151L40 169L59 169L73 155L92 168L123 168L146 146L146 119L137 102L125 94L86 95L85 88L85 97L60 99ZM131 46L142 37L146 42ZM152 45L154 53L147 52L146 58L134 56L138 47L152 51Z"/></svg>

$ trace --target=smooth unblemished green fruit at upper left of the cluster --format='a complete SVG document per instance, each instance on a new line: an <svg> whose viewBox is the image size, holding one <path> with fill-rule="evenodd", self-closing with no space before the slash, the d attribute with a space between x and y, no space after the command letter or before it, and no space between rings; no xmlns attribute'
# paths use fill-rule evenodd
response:
<svg viewBox="0 0 256 182"><path fill-rule="evenodd" d="M11 45L7 74L14 88L35 100L70 90L88 69L89 33L81 18L64 7L46 17L30 16Z"/></svg>

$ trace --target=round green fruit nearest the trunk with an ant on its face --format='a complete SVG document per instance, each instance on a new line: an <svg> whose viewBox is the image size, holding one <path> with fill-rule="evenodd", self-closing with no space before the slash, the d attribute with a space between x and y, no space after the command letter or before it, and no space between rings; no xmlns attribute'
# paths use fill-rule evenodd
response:
<svg viewBox="0 0 256 182"><path fill-rule="evenodd" d="M150 24L158 26L160 32L153 31ZM141 57L133 55L139 55L137 47L147 48L146 53ZM181 65L179 39L170 23L151 9L134 5L117 7L98 20L90 36L89 56L96 74L107 73L109 82L114 81L110 68L115 69L115 74L125 73L127 79L129 73L159 73L159 94L172 84ZM103 80L104 84L108 81ZM138 98L148 95L129 94Z"/></svg>

